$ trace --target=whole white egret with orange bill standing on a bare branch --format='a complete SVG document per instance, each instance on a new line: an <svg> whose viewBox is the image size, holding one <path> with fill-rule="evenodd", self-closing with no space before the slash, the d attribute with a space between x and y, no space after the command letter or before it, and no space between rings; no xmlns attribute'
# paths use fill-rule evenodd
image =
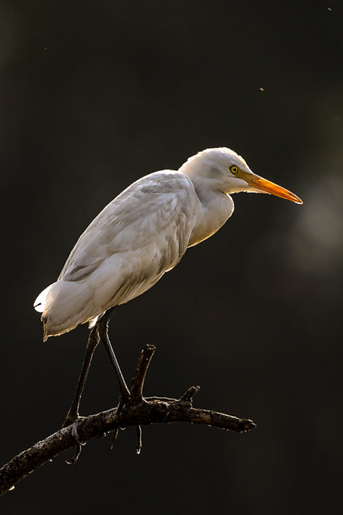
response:
<svg viewBox="0 0 343 515"><path fill-rule="evenodd" d="M188 247L212 236L233 214L237 192L268 193L298 204L298 196L254 174L228 148L209 148L178 171L162 170L132 183L91 222L57 281L38 295L44 341L74 329L93 328L78 388L64 425L78 418L80 397L99 340L115 367L121 399L129 396L107 334L108 317L151 288L178 264Z"/></svg>

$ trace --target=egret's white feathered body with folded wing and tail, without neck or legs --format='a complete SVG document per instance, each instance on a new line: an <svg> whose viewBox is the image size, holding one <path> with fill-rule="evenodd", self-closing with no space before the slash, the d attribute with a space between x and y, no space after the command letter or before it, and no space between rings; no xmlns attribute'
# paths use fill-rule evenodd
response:
<svg viewBox="0 0 343 515"><path fill-rule="evenodd" d="M163 170L132 183L82 233L56 283L36 299L45 339L151 288L187 249L198 198Z"/></svg>

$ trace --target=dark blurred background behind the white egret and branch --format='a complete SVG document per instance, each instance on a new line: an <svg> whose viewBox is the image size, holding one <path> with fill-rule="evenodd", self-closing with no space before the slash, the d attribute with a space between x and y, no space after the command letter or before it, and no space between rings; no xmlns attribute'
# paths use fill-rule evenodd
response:
<svg viewBox="0 0 343 515"><path fill-rule="evenodd" d="M330 9L328 9L328 7ZM339 513L343 258L341 1L2 1L1 461L53 433L87 328L42 343L32 303L129 183L228 146L303 198L235 195L235 213L110 334L147 395L250 417L237 435L128 429L57 457L1 513ZM264 91L261 91L263 89ZM117 402L97 350L82 413Z"/></svg>

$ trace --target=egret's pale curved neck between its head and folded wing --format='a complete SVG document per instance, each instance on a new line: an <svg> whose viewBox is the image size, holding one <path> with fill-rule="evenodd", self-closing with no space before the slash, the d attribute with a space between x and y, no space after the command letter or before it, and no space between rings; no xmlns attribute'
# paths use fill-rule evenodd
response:
<svg viewBox="0 0 343 515"><path fill-rule="evenodd" d="M230 195L209 190L206 185L192 181L199 199L196 224L193 227L188 247L192 247L217 232L233 214L234 204Z"/></svg>

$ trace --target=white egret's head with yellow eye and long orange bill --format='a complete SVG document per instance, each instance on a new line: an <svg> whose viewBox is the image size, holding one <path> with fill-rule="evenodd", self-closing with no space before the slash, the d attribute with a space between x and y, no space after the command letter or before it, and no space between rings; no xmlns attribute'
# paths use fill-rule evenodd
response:
<svg viewBox="0 0 343 515"><path fill-rule="evenodd" d="M226 194L238 192L269 193L297 204L303 201L294 193L254 174L243 157L230 148L207 148L190 157L180 172L189 176L196 189L217 190Z"/></svg>

